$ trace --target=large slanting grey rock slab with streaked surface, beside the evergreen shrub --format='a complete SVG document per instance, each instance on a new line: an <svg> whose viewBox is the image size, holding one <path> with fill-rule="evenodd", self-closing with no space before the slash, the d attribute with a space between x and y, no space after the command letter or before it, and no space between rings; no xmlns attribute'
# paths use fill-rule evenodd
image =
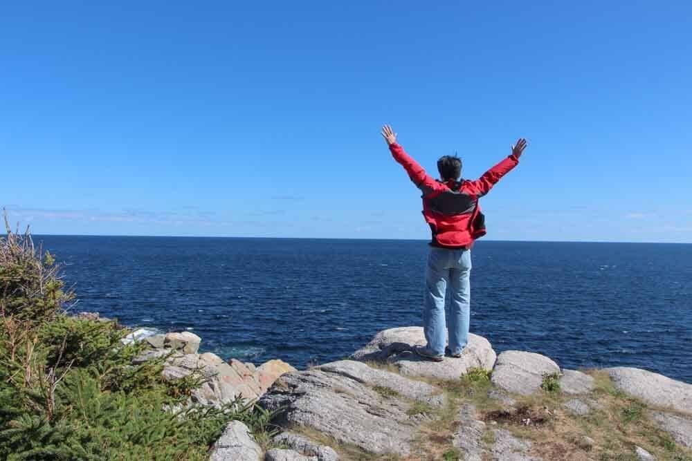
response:
<svg viewBox="0 0 692 461"><path fill-rule="evenodd" d="M410 453L417 422L425 409L444 398L423 382L370 368L357 361L337 361L283 375L260 399L280 411L277 423L304 426L369 453Z"/></svg>

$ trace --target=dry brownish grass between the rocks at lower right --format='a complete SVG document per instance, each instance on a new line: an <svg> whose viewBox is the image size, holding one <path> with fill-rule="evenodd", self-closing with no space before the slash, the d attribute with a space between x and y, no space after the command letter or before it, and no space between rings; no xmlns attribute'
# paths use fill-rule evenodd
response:
<svg viewBox="0 0 692 461"><path fill-rule="evenodd" d="M392 370L392 364L378 364L376 368ZM498 400L488 397L493 386L481 373L473 377L445 382L420 379L438 388L446 395L446 404L431 408L411 401L409 413L426 413L426 420L410 415L417 424L417 436L412 441L410 455L373 455L357 446L342 444L310 429L298 432L322 444L332 446L343 460L358 461L455 461L463 459L462 453L453 447L454 433L458 427L459 408L471 403L477 408L478 418L488 424L482 442L490 450L495 442L492 430L503 428L518 438L531 440L531 454L545 460L636 460L635 446L641 446L658 460L692 461L692 451L675 444L671 435L659 429L648 419L652 408L643 402L614 388L608 373L588 371L594 377L595 388L590 395L581 396L591 402L592 411L585 416L574 415L563 404L574 398L558 392L539 391L534 395L512 395L516 399L513 408L506 408ZM386 388L379 390L383 398L390 396ZM598 408L597 408L598 407ZM599 409L600 408L600 409ZM670 410L667 410L671 413ZM675 413L675 412L673 412ZM527 420L530 422L527 424ZM493 424L492 422L495 422ZM591 438L592 444L585 442ZM486 453L486 458L490 459Z"/></svg>

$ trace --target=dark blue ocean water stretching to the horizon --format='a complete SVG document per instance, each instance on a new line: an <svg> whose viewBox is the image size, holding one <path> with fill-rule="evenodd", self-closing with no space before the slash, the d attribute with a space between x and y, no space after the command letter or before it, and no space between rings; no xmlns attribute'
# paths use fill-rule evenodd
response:
<svg viewBox="0 0 692 461"><path fill-rule="evenodd" d="M419 325L421 241L35 236L80 302L202 349L302 367ZM637 366L692 382L692 245L480 241L471 331L565 368Z"/></svg>

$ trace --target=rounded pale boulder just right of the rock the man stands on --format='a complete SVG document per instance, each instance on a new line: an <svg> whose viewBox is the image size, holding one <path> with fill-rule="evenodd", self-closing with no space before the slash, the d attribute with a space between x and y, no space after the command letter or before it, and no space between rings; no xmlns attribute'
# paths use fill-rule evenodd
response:
<svg viewBox="0 0 692 461"><path fill-rule="evenodd" d="M491 380L504 391L530 395L540 389L545 375L553 373L560 373L560 367L545 355L506 350L498 356Z"/></svg>

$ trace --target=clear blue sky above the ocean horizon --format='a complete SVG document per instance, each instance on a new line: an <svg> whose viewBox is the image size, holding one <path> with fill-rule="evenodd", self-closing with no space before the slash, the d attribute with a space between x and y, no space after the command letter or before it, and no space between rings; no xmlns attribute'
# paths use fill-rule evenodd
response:
<svg viewBox="0 0 692 461"><path fill-rule="evenodd" d="M692 3L15 3L0 205L36 233L428 238L388 122L466 178L529 139L488 239L692 242Z"/></svg>

